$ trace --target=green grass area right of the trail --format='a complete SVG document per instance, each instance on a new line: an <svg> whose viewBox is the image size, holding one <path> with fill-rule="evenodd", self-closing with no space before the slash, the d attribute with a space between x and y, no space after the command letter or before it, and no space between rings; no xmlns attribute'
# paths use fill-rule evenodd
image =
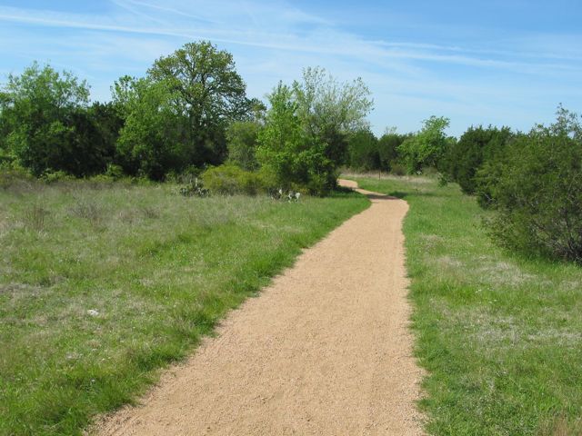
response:
<svg viewBox="0 0 582 436"><path fill-rule="evenodd" d="M356 178L410 204L407 269L437 435L582 434L582 268L498 249L457 185Z"/></svg>

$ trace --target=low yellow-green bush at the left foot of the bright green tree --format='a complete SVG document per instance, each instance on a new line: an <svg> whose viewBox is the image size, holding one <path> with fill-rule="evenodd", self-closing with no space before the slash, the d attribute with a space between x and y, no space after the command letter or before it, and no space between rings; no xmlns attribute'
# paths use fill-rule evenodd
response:
<svg viewBox="0 0 582 436"><path fill-rule="evenodd" d="M222 195L256 195L275 187L273 178L265 171L253 173L229 164L206 170L202 181L210 193Z"/></svg>

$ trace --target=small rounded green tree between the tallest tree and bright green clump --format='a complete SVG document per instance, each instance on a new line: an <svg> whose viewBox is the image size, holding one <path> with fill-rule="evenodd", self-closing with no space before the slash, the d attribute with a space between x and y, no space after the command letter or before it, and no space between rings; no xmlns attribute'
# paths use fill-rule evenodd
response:
<svg viewBox="0 0 582 436"><path fill-rule="evenodd" d="M254 171L256 162L256 144L261 125L254 121L238 121L226 129L228 162L240 166L243 170Z"/></svg>

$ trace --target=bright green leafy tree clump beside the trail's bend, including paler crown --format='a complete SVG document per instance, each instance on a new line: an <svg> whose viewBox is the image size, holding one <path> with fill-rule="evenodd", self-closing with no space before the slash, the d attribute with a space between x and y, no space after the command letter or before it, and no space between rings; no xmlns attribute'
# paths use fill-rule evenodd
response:
<svg viewBox="0 0 582 436"><path fill-rule="evenodd" d="M361 79L338 84L320 68L306 68L292 86L278 84L258 135L258 162L284 190L326 195L346 160L348 136L366 126L368 95Z"/></svg>

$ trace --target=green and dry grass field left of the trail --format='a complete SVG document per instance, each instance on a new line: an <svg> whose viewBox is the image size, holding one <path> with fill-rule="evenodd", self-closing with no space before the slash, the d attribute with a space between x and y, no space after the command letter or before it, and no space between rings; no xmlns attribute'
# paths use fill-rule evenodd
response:
<svg viewBox="0 0 582 436"><path fill-rule="evenodd" d="M185 198L177 186L0 189L0 434L80 434L366 198Z"/></svg>

